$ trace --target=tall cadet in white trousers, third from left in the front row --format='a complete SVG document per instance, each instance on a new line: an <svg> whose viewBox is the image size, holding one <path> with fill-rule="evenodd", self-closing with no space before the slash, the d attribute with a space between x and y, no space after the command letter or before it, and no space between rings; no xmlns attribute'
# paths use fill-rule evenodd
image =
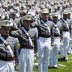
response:
<svg viewBox="0 0 72 72"><path fill-rule="evenodd" d="M48 72L48 59L51 50L51 33L47 24L48 9L40 12L38 27L38 68L39 72Z"/></svg>

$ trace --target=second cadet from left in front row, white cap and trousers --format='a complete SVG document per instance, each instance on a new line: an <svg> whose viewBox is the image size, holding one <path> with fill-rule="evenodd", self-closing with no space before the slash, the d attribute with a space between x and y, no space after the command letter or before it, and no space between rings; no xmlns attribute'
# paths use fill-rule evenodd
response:
<svg viewBox="0 0 72 72"><path fill-rule="evenodd" d="M31 16L26 15L22 17L22 25L21 31L22 34L25 36L26 41L20 40L20 72L32 72L33 65L34 65L34 45L32 42L31 37L35 34L32 30L30 30L31 24ZM36 30L36 29L35 29ZM33 32L33 33L32 33ZM30 37L31 36L31 37Z"/></svg>

